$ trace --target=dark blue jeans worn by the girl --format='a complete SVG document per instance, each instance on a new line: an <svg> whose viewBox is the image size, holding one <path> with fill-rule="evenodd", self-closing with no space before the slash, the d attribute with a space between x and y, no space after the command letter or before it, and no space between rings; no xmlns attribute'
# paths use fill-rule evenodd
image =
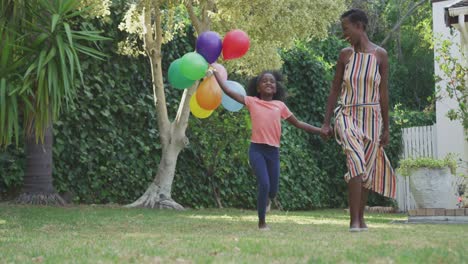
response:
<svg viewBox="0 0 468 264"><path fill-rule="evenodd" d="M266 144L250 143L249 161L257 177L258 219L265 220L268 198L275 198L279 187L279 148Z"/></svg>

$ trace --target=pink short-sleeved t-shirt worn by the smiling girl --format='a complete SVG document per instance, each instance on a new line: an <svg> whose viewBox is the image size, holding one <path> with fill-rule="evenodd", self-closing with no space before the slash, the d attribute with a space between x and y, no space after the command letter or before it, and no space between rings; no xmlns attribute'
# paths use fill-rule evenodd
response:
<svg viewBox="0 0 468 264"><path fill-rule="evenodd" d="M253 143L279 147L281 138L281 120L292 113L281 101L264 101L254 96L245 96L245 105L252 121Z"/></svg>

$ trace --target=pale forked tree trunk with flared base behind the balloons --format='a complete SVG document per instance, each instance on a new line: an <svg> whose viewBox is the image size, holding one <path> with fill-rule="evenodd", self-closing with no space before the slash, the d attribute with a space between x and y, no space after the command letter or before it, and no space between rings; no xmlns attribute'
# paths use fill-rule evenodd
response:
<svg viewBox="0 0 468 264"><path fill-rule="evenodd" d="M177 164L177 158L182 149L188 145L185 130L190 116L189 101L195 93L198 82L185 89L179 104L177 116L173 122L169 121L166 95L162 75L162 22L161 2L145 1L143 11L144 47L151 64L153 85L153 99L157 112L157 122L161 139L162 155L158 172L145 193L132 204L126 207L146 207L158 209L183 210L184 207L171 197L172 182Z"/></svg>

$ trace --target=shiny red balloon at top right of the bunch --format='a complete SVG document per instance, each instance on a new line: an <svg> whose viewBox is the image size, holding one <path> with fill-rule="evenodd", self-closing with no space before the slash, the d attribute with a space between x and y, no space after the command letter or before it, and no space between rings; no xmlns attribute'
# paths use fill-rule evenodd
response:
<svg viewBox="0 0 468 264"><path fill-rule="evenodd" d="M225 60L237 59L245 55L250 47L247 34L239 29L229 31L223 39L223 58Z"/></svg>

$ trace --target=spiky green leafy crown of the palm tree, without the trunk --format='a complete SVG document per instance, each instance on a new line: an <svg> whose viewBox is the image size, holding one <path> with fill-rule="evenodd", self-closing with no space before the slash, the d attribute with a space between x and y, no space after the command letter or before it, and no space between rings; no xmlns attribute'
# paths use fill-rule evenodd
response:
<svg viewBox="0 0 468 264"><path fill-rule="evenodd" d="M73 102L76 73L83 82L78 55L104 59L106 54L91 45L109 38L77 24L86 12L78 9L80 1L0 3L0 76L6 76L0 83L0 145L5 145L19 134L18 107L24 108L26 131L44 135L63 102Z"/></svg>

